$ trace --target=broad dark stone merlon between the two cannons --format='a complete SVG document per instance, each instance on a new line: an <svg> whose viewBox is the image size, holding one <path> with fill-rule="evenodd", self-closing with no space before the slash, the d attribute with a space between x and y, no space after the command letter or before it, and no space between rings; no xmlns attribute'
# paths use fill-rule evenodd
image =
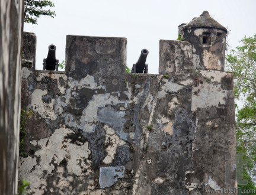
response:
<svg viewBox="0 0 256 195"><path fill-rule="evenodd" d="M66 71L73 78L120 77L126 68L126 44L126 38L67 35Z"/></svg>

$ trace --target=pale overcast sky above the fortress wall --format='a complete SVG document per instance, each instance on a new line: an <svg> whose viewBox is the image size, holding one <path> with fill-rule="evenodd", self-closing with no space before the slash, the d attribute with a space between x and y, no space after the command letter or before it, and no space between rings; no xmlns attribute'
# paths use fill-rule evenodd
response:
<svg viewBox="0 0 256 195"><path fill-rule="evenodd" d="M159 40L176 40L178 25L199 17L203 11L231 30L231 48L256 33L255 0L53 0L56 17L40 17L38 25L24 31L37 35L36 69L43 69L48 46L55 44L56 58L65 60L66 35L126 37L127 65L132 67L140 50L149 50L149 73L158 74Z"/></svg>

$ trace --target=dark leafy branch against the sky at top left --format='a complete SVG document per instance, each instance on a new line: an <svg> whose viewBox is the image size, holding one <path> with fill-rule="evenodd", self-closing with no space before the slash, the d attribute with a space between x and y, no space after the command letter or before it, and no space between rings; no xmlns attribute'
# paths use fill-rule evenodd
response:
<svg viewBox="0 0 256 195"><path fill-rule="evenodd" d="M55 17L55 11L45 9L46 7L54 7L55 5L51 1L47 0L25 0L24 1L24 22L37 24L37 18L41 15L48 15Z"/></svg>

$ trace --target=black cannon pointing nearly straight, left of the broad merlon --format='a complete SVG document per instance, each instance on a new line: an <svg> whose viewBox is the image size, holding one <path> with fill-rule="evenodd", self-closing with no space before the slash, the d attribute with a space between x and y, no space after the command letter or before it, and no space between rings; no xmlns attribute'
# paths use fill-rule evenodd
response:
<svg viewBox="0 0 256 195"><path fill-rule="evenodd" d="M43 59L43 70L58 70L59 60L56 60L56 46L49 45L47 58Z"/></svg>

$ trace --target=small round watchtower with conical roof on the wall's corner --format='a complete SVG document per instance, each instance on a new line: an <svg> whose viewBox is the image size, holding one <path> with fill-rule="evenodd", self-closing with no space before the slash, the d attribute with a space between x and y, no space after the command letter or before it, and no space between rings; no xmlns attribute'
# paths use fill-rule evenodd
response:
<svg viewBox="0 0 256 195"><path fill-rule="evenodd" d="M194 68L224 71L227 30L209 12L180 25L180 30L181 38L193 45Z"/></svg>

